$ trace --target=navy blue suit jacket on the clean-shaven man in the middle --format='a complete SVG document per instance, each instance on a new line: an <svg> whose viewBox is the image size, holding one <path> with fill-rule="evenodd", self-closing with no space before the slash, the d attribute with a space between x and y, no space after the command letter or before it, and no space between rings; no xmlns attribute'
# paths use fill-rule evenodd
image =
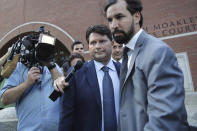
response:
<svg viewBox="0 0 197 131"><path fill-rule="evenodd" d="M114 63L117 72L120 63ZM94 61L86 62L63 96L59 131L101 131L102 107Z"/></svg>

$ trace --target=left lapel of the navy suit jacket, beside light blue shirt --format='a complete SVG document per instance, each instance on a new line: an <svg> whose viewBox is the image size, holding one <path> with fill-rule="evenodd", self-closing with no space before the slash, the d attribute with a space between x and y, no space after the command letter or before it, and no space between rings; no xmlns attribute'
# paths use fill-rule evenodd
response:
<svg viewBox="0 0 197 131"><path fill-rule="evenodd" d="M87 74L88 74L87 81L90 85L90 89L94 93L96 102L99 106L99 110L101 111L101 95L100 95L99 84L98 84L98 79L97 79L95 65L94 65L93 60L89 61L87 64Z"/></svg>

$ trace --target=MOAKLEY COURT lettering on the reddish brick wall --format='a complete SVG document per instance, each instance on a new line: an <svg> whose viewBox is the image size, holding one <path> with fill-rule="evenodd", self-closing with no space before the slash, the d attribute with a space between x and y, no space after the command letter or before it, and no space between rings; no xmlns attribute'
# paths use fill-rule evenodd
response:
<svg viewBox="0 0 197 131"><path fill-rule="evenodd" d="M144 27L144 30L155 37L165 37L194 32L197 31L197 16L188 16L159 24L147 25Z"/></svg>

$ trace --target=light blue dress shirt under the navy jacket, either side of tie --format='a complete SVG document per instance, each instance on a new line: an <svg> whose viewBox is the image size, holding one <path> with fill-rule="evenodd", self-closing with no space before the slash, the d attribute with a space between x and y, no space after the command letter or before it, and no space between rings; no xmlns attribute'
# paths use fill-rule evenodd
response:
<svg viewBox="0 0 197 131"><path fill-rule="evenodd" d="M104 119L103 119L103 76L104 72L101 68L104 66L102 63L94 61L96 75L99 83L100 95L101 95L101 104L102 104L102 131L104 131ZM113 88L114 88L114 100L115 100L115 110L116 110L116 119L118 122L118 112L119 112L119 92L120 92L120 80L118 77L118 73L116 71L116 67L113 64L113 61L110 60L109 63L106 65L109 68L109 75L112 79ZM118 123L117 123L118 124Z"/></svg>

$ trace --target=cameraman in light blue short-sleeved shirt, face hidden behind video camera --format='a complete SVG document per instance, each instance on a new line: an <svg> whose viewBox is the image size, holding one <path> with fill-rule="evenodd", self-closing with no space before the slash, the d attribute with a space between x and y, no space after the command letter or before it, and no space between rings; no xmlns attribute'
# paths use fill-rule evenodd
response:
<svg viewBox="0 0 197 131"><path fill-rule="evenodd" d="M25 40L23 43L27 44L28 39ZM19 61L0 91L2 104L15 103L18 117L17 131L58 130L60 98L52 102L48 97L54 90L53 80L61 75L61 69L48 58L52 56L48 56L49 51L46 50L48 45L45 46L43 43L40 45L43 46L40 46L36 53L40 54L38 58L44 59L36 57L33 62L37 64L33 65ZM30 52L30 49L28 51Z"/></svg>

